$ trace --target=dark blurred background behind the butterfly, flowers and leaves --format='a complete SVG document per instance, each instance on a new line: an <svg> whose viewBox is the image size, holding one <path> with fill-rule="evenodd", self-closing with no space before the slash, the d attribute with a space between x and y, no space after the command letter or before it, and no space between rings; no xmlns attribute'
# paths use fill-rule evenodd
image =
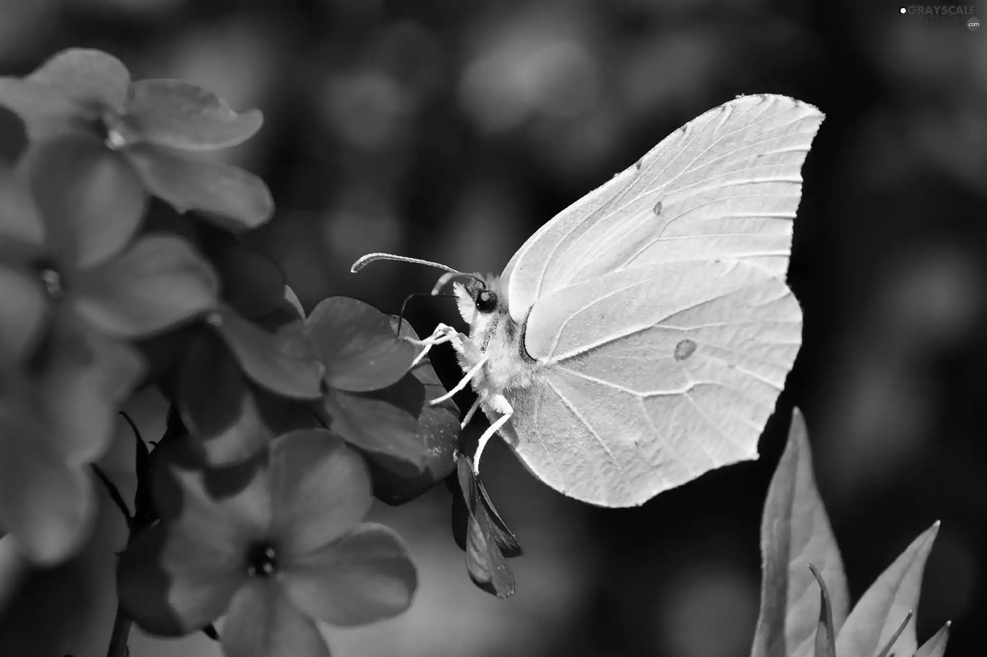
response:
<svg viewBox="0 0 987 657"><path fill-rule="evenodd" d="M344 294L396 313L435 280L395 263L349 274L368 252L499 272L555 213L735 95L817 106L790 272L804 342L761 459L605 511L541 485L495 441L484 479L526 550L511 562L517 593L472 585L438 486L373 511L418 561L412 610L328 636L339 657L745 656L761 505L798 405L852 598L942 520L919 639L952 620L949 654L982 652L987 30L883 0L0 0L0 74L69 46L264 110L228 157L270 185L277 214L251 241L309 309ZM18 129L0 115L7 155ZM458 322L445 299L408 316L419 333ZM458 379L451 350L433 363ZM161 400L132 406L145 437L160 435ZM104 464L124 494L130 445ZM105 504L77 559L6 591L4 657L105 654L124 536ZM201 634L134 630L130 646L219 655Z"/></svg>

